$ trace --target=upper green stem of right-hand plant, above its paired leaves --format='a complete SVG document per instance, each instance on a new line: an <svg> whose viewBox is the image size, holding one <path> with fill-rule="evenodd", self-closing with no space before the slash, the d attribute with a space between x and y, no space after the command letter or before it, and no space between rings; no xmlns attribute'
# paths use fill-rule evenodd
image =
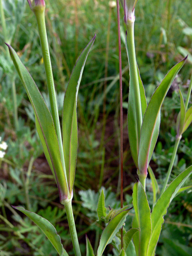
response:
<svg viewBox="0 0 192 256"><path fill-rule="evenodd" d="M127 21L127 45L128 45L128 57L129 57L129 74L130 80L133 82L134 95L135 95L135 109L137 118L137 134L138 140L140 138L141 124L142 124L142 112L141 112L141 98L139 91L139 79L137 73L137 62L135 56L135 42L134 42L134 21Z"/></svg>

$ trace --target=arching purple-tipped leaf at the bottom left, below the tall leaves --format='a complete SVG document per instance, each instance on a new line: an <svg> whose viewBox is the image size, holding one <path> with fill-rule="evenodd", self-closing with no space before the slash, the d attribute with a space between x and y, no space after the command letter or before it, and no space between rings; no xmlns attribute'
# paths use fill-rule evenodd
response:
<svg viewBox="0 0 192 256"><path fill-rule="evenodd" d="M61 256L69 256L68 253L63 248L63 245L61 243L61 238L59 235L57 235L57 231L54 228L54 226L45 218L42 216L39 216L38 214L34 212L30 212L28 210L25 210L23 207L16 207L13 206L13 208L23 212L26 216L28 216L35 224L44 232L46 237L49 239L49 241L52 243L52 245L55 247L56 251Z"/></svg>

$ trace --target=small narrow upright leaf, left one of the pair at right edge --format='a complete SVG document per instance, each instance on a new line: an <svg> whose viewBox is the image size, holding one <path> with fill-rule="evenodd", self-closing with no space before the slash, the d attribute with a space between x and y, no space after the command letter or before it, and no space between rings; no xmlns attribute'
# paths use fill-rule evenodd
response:
<svg viewBox="0 0 192 256"><path fill-rule="evenodd" d="M186 114L185 102L184 102L183 95L181 94L180 89L179 89L179 94L180 94L181 110L177 116L177 123L176 123L177 136L182 135L183 127L185 124L185 114Z"/></svg>

